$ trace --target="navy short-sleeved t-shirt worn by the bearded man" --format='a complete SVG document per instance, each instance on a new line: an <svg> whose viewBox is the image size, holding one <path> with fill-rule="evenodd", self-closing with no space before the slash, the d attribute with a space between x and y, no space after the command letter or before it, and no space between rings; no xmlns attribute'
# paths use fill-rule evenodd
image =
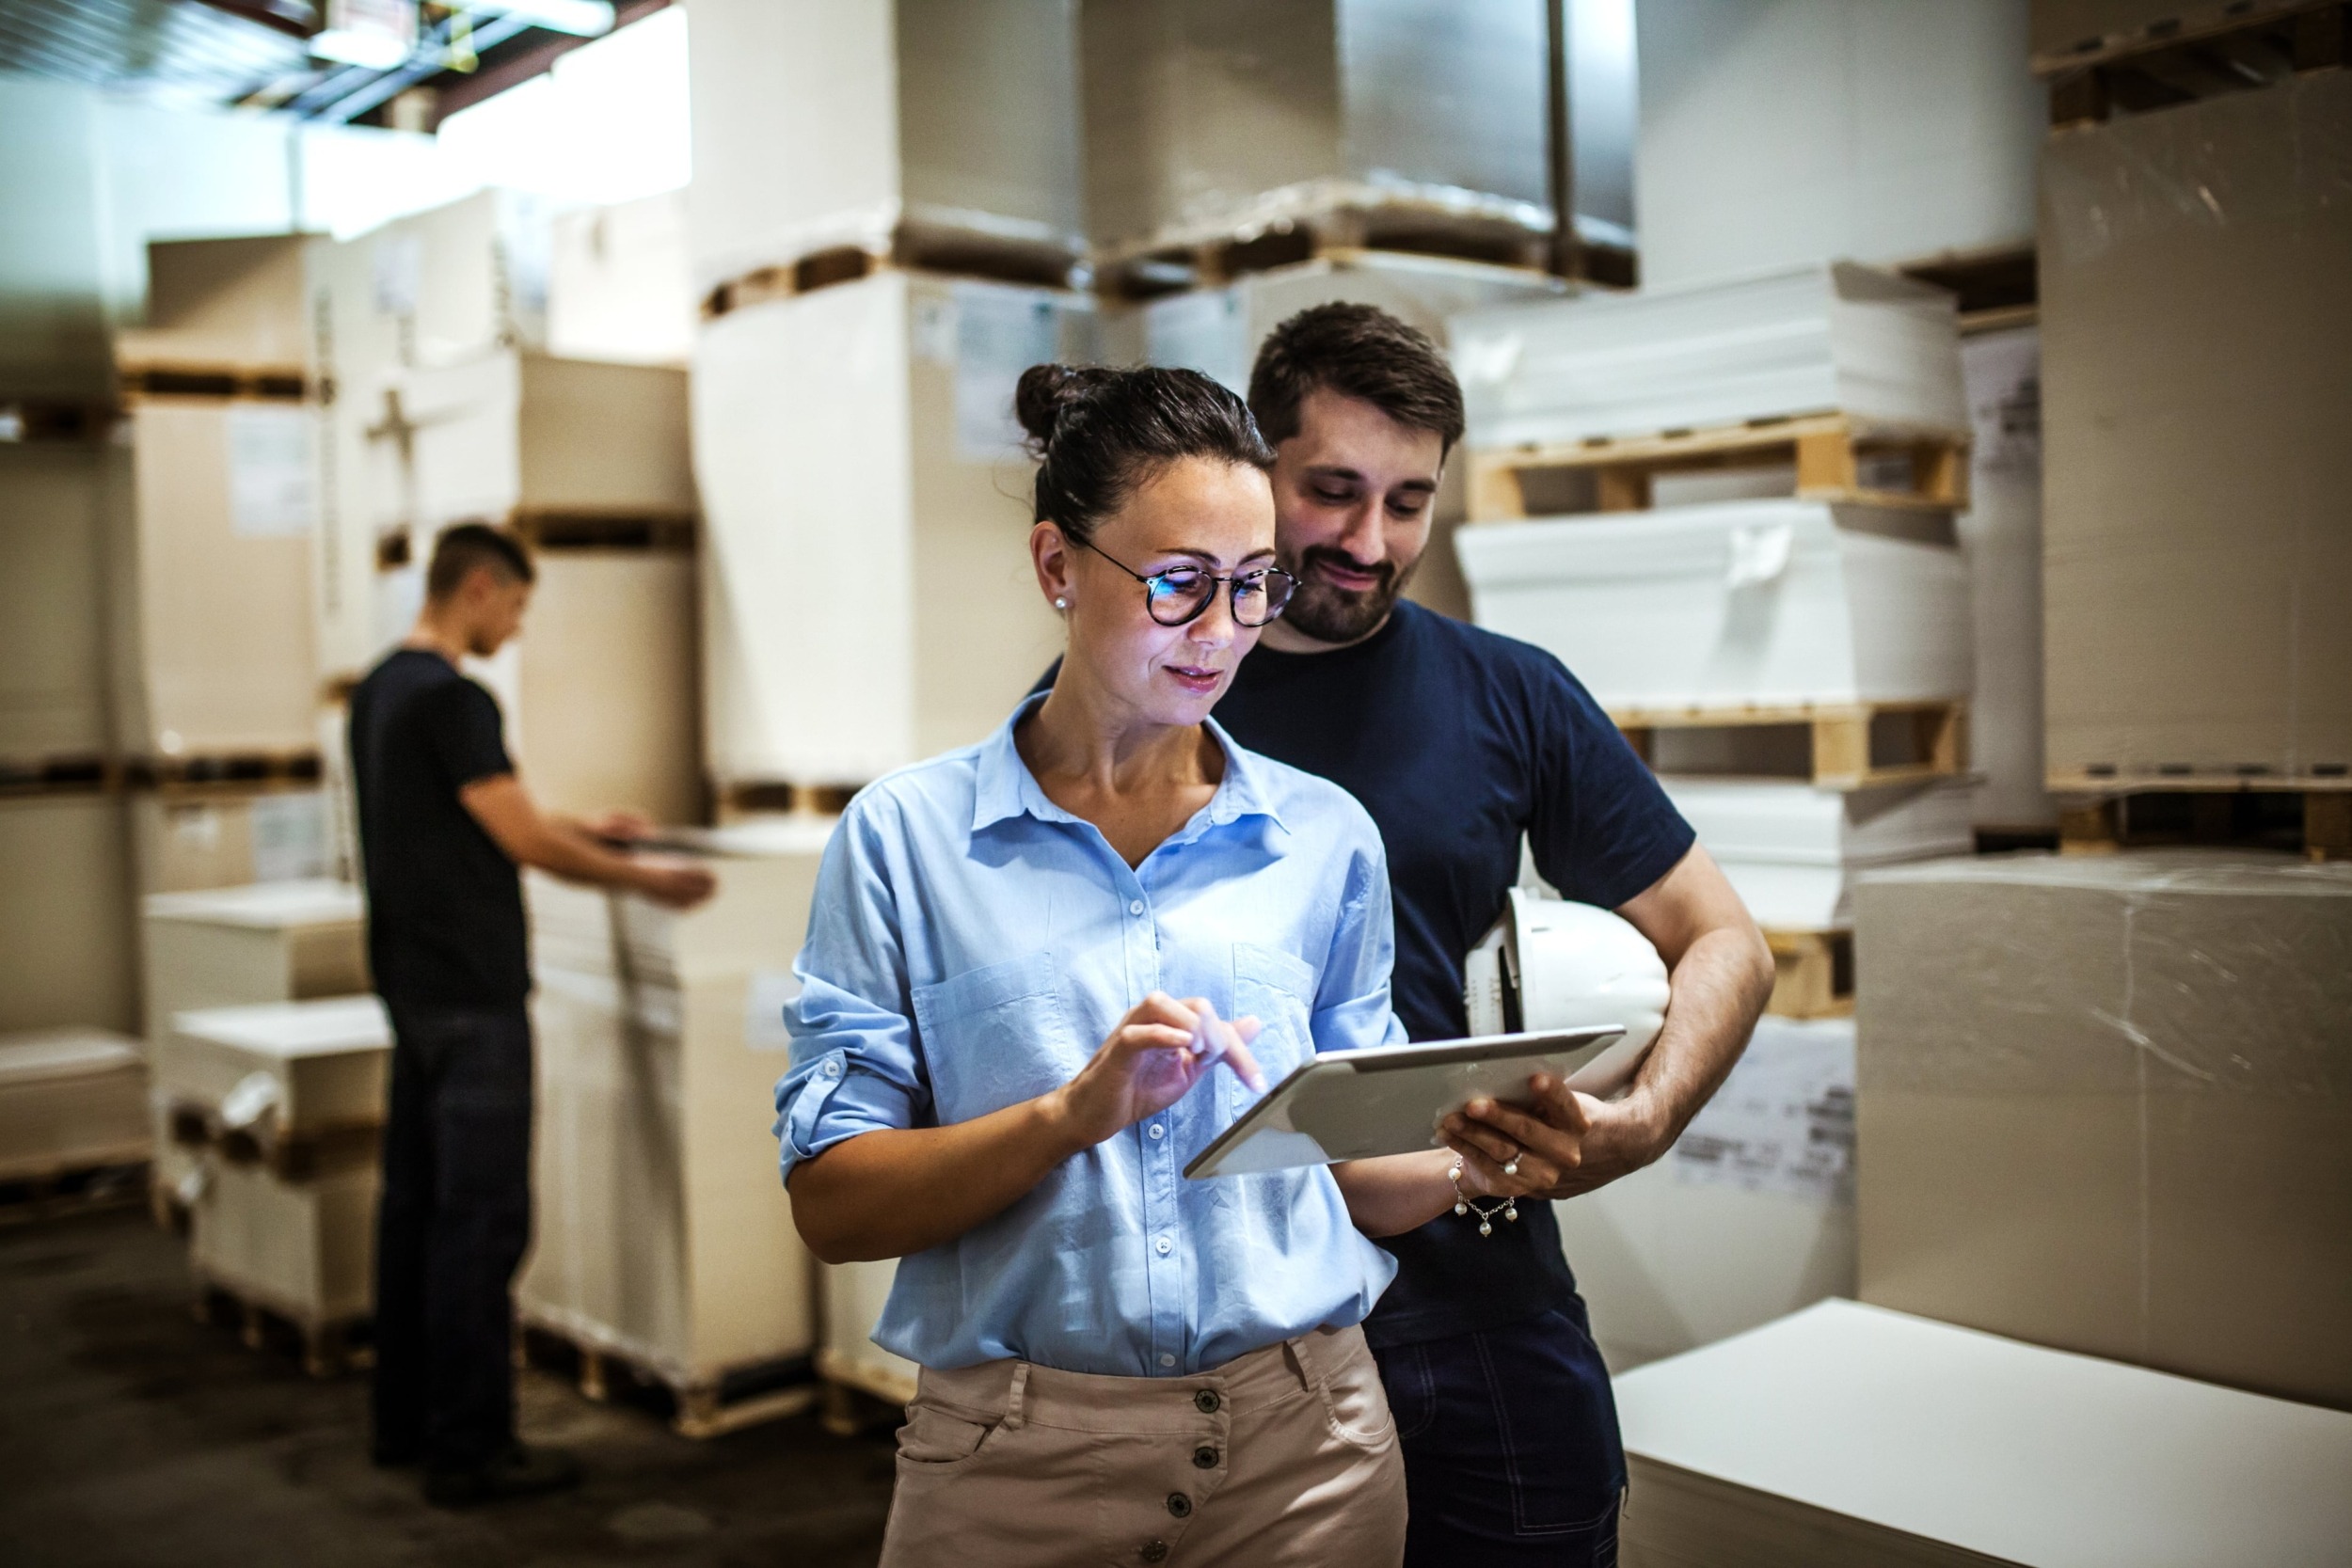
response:
<svg viewBox="0 0 2352 1568"><path fill-rule="evenodd" d="M1545 882L1604 910L1691 849L1691 825L1557 658L1411 602L1355 646L1256 649L1216 719L1381 825L1395 1009L1416 1041L1468 1032L1463 959L1519 882L1522 832ZM1576 1288L1550 1204L1519 1206L1494 1237L1446 1213L1381 1246L1399 1269L1364 1324L1374 1345L1498 1328Z"/></svg>

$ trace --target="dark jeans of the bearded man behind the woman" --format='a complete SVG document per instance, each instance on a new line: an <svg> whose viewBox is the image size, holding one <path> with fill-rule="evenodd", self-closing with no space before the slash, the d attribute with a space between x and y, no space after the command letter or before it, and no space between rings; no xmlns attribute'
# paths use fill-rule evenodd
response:
<svg viewBox="0 0 2352 1568"><path fill-rule="evenodd" d="M1611 1568L1625 1448L1585 1305L1376 1352L1404 1441L1404 1568Z"/></svg>

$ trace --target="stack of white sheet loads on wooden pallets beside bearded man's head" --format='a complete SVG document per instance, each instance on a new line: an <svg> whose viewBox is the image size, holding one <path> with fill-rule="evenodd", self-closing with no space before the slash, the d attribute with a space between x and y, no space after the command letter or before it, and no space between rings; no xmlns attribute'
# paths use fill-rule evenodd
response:
<svg viewBox="0 0 2352 1568"><path fill-rule="evenodd" d="M1832 263L1451 327L1479 625L1665 776L1773 933L1776 1011L1851 1006L1846 879L1971 846L1952 296Z"/></svg>

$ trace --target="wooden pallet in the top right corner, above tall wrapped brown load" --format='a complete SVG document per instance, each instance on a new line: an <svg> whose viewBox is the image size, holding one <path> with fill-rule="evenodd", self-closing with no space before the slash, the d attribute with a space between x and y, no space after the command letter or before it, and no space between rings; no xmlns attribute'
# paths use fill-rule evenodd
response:
<svg viewBox="0 0 2352 1568"><path fill-rule="evenodd" d="M2338 71L2352 59L2347 42L2352 7L2343 0L2206 0L2037 54L2032 66L2051 85L2051 125L2074 127Z"/></svg>

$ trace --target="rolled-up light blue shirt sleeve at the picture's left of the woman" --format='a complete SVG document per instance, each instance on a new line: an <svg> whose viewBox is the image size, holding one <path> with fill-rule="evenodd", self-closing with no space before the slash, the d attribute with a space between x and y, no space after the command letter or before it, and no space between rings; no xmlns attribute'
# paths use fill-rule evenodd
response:
<svg viewBox="0 0 2352 1568"><path fill-rule="evenodd" d="M922 1126L931 1086L915 1053L898 903L877 806L851 802L826 846L809 938L793 964L800 997L783 1009L793 1065L776 1084L783 1180L835 1143Z"/></svg>

